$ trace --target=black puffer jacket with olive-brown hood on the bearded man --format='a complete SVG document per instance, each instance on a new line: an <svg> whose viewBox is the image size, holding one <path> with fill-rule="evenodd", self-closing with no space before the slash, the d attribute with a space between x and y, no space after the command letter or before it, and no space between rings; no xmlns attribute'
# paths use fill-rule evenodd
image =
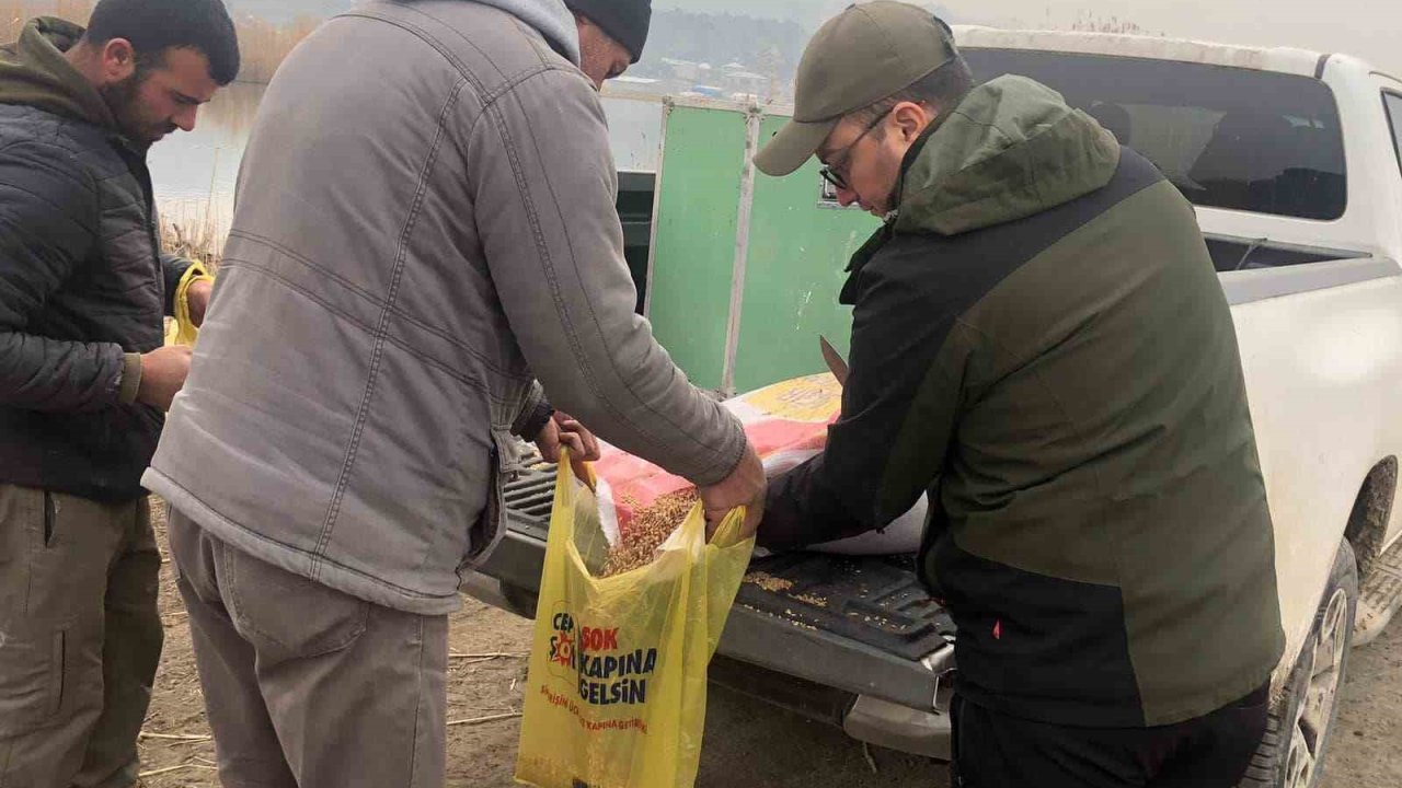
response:
<svg viewBox="0 0 1402 788"><path fill-rule="evenodd" d="M143 494L164 415L133 402L188 261L160 252L144 156L63 59L81 28L0 49L0 484Z"/></svg>

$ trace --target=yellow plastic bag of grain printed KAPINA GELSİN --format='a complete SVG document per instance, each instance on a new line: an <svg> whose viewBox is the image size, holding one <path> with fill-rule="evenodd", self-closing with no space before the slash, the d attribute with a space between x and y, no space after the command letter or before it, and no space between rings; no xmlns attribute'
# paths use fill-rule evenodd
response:
<svg viewBox="0 0 1402 788"><path fill-rule="evenodd" d="M707 665L754 540L732 512L711 544L697 505L651 564L594 578L599 509L559 463L526 680L516 781L537 788L691 788Z"/></svg>

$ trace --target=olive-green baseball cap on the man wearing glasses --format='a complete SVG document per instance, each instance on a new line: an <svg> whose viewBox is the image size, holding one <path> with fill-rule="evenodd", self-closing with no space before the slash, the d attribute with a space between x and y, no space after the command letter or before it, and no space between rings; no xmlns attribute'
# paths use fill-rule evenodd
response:
<svg viewBox="0 0 1402 788"><path fill-rule="evenodd" d="M850 6L803 50L794 119L754 157L767 175L803 165L843 116L900 93L959 57L949 25L908 3Z"/></svg>

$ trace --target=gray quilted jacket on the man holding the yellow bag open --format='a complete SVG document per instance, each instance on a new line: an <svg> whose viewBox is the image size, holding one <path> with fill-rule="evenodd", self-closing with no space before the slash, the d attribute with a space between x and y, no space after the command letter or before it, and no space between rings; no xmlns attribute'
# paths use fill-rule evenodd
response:
<svg viewBox="0 0 1402 788"><path fill-rule="evenodd" d="M739 423L634 314L576 50L561 0L370 3L299 46L153 491L264 561L437 614L501 538L509 433L541 387L695 482L736 467Z"/></svg>

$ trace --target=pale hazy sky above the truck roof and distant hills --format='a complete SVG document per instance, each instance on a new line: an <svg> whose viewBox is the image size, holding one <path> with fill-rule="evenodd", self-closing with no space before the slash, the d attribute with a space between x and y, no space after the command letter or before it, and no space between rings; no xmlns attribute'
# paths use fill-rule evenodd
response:
<svg viewBox="0 0 1402 788"><path fill-rule="evenodd" d="M795 18L816 27L850 0L653 0L658 7ZM1357 55L1402 76L1396 0L937 0L956 21L1067 28L1077 11L1119 17L1154 32L1225 43L1300 46Z"/></svg>

